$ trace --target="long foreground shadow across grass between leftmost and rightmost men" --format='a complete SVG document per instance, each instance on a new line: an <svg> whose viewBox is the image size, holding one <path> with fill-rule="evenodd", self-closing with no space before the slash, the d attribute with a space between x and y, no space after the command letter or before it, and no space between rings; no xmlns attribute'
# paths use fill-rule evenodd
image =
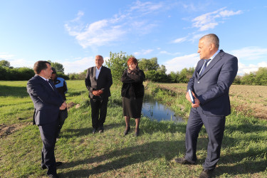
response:
<svg viewBox="0 0 267 178"><path fill-rule="evenodd" d="M62 177L88 177L89 175L108 172L131 164L147 162L156 158L164 157L170 161L177 155L177 145L184 144L183 141L160 141L150 142L136 147L125 147L120 150L112 151L99 157L82 159L62 165L61 169L75 167L80 164L93 164L95 162L105 162L92 169L73 170L68 173L60 174ZM166 149L168 147L168 149ZM110 159L110 161L108 160ZM108 162L107 162L108 161Z"/></svg>

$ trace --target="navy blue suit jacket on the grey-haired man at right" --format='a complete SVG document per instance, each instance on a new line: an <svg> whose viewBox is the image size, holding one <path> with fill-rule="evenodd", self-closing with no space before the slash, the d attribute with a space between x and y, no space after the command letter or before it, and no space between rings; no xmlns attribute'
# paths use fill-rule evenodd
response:
<svg viewBox="0 0 267 178"><path fill-rule="evenodd" d="M237 58L221 50L199 76L203 63L204 60L197 63L187 90L194 91L205 115L229 115L229 88L238 70Z"/></svg>

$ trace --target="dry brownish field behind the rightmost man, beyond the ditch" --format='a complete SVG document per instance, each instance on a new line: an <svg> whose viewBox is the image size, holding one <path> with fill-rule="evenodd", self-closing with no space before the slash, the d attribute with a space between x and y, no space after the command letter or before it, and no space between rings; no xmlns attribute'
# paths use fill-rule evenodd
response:
<svg viewBox="0 0 267 178"><path fill-rule="evenodd" d="M186 93L185 83L158 83L159 87L177 93ZM267 120L267 86L231 85L230 100L236 112Z"/></svg>

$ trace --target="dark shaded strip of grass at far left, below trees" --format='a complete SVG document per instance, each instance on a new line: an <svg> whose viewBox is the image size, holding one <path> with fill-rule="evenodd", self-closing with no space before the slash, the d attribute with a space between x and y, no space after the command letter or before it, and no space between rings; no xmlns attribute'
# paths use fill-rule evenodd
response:
<svg viewBox="0 0 267 178"><path fill-rule="evenodd" d="M27 88L0 85L0 96L14 96L14 97L26 97L28 96Z"/></svg>

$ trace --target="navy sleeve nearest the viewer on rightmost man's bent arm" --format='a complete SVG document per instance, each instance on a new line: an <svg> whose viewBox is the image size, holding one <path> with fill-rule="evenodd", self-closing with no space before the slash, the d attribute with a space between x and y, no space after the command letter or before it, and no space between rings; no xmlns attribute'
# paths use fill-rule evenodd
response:
<svg viewBox="0 0 267 178"><path fill-rule="evenodd" d="M222 60L225 60L222 58ZM226 59L227 60L227 59ZM215 98L224 95L225 93L229 93L229 88L236 77L238 70L238 61L236 57L229 58L221 68L221 72L219 73L217 85L213 88L210 88L198 96L201 105L208 103Z"/></svg>

